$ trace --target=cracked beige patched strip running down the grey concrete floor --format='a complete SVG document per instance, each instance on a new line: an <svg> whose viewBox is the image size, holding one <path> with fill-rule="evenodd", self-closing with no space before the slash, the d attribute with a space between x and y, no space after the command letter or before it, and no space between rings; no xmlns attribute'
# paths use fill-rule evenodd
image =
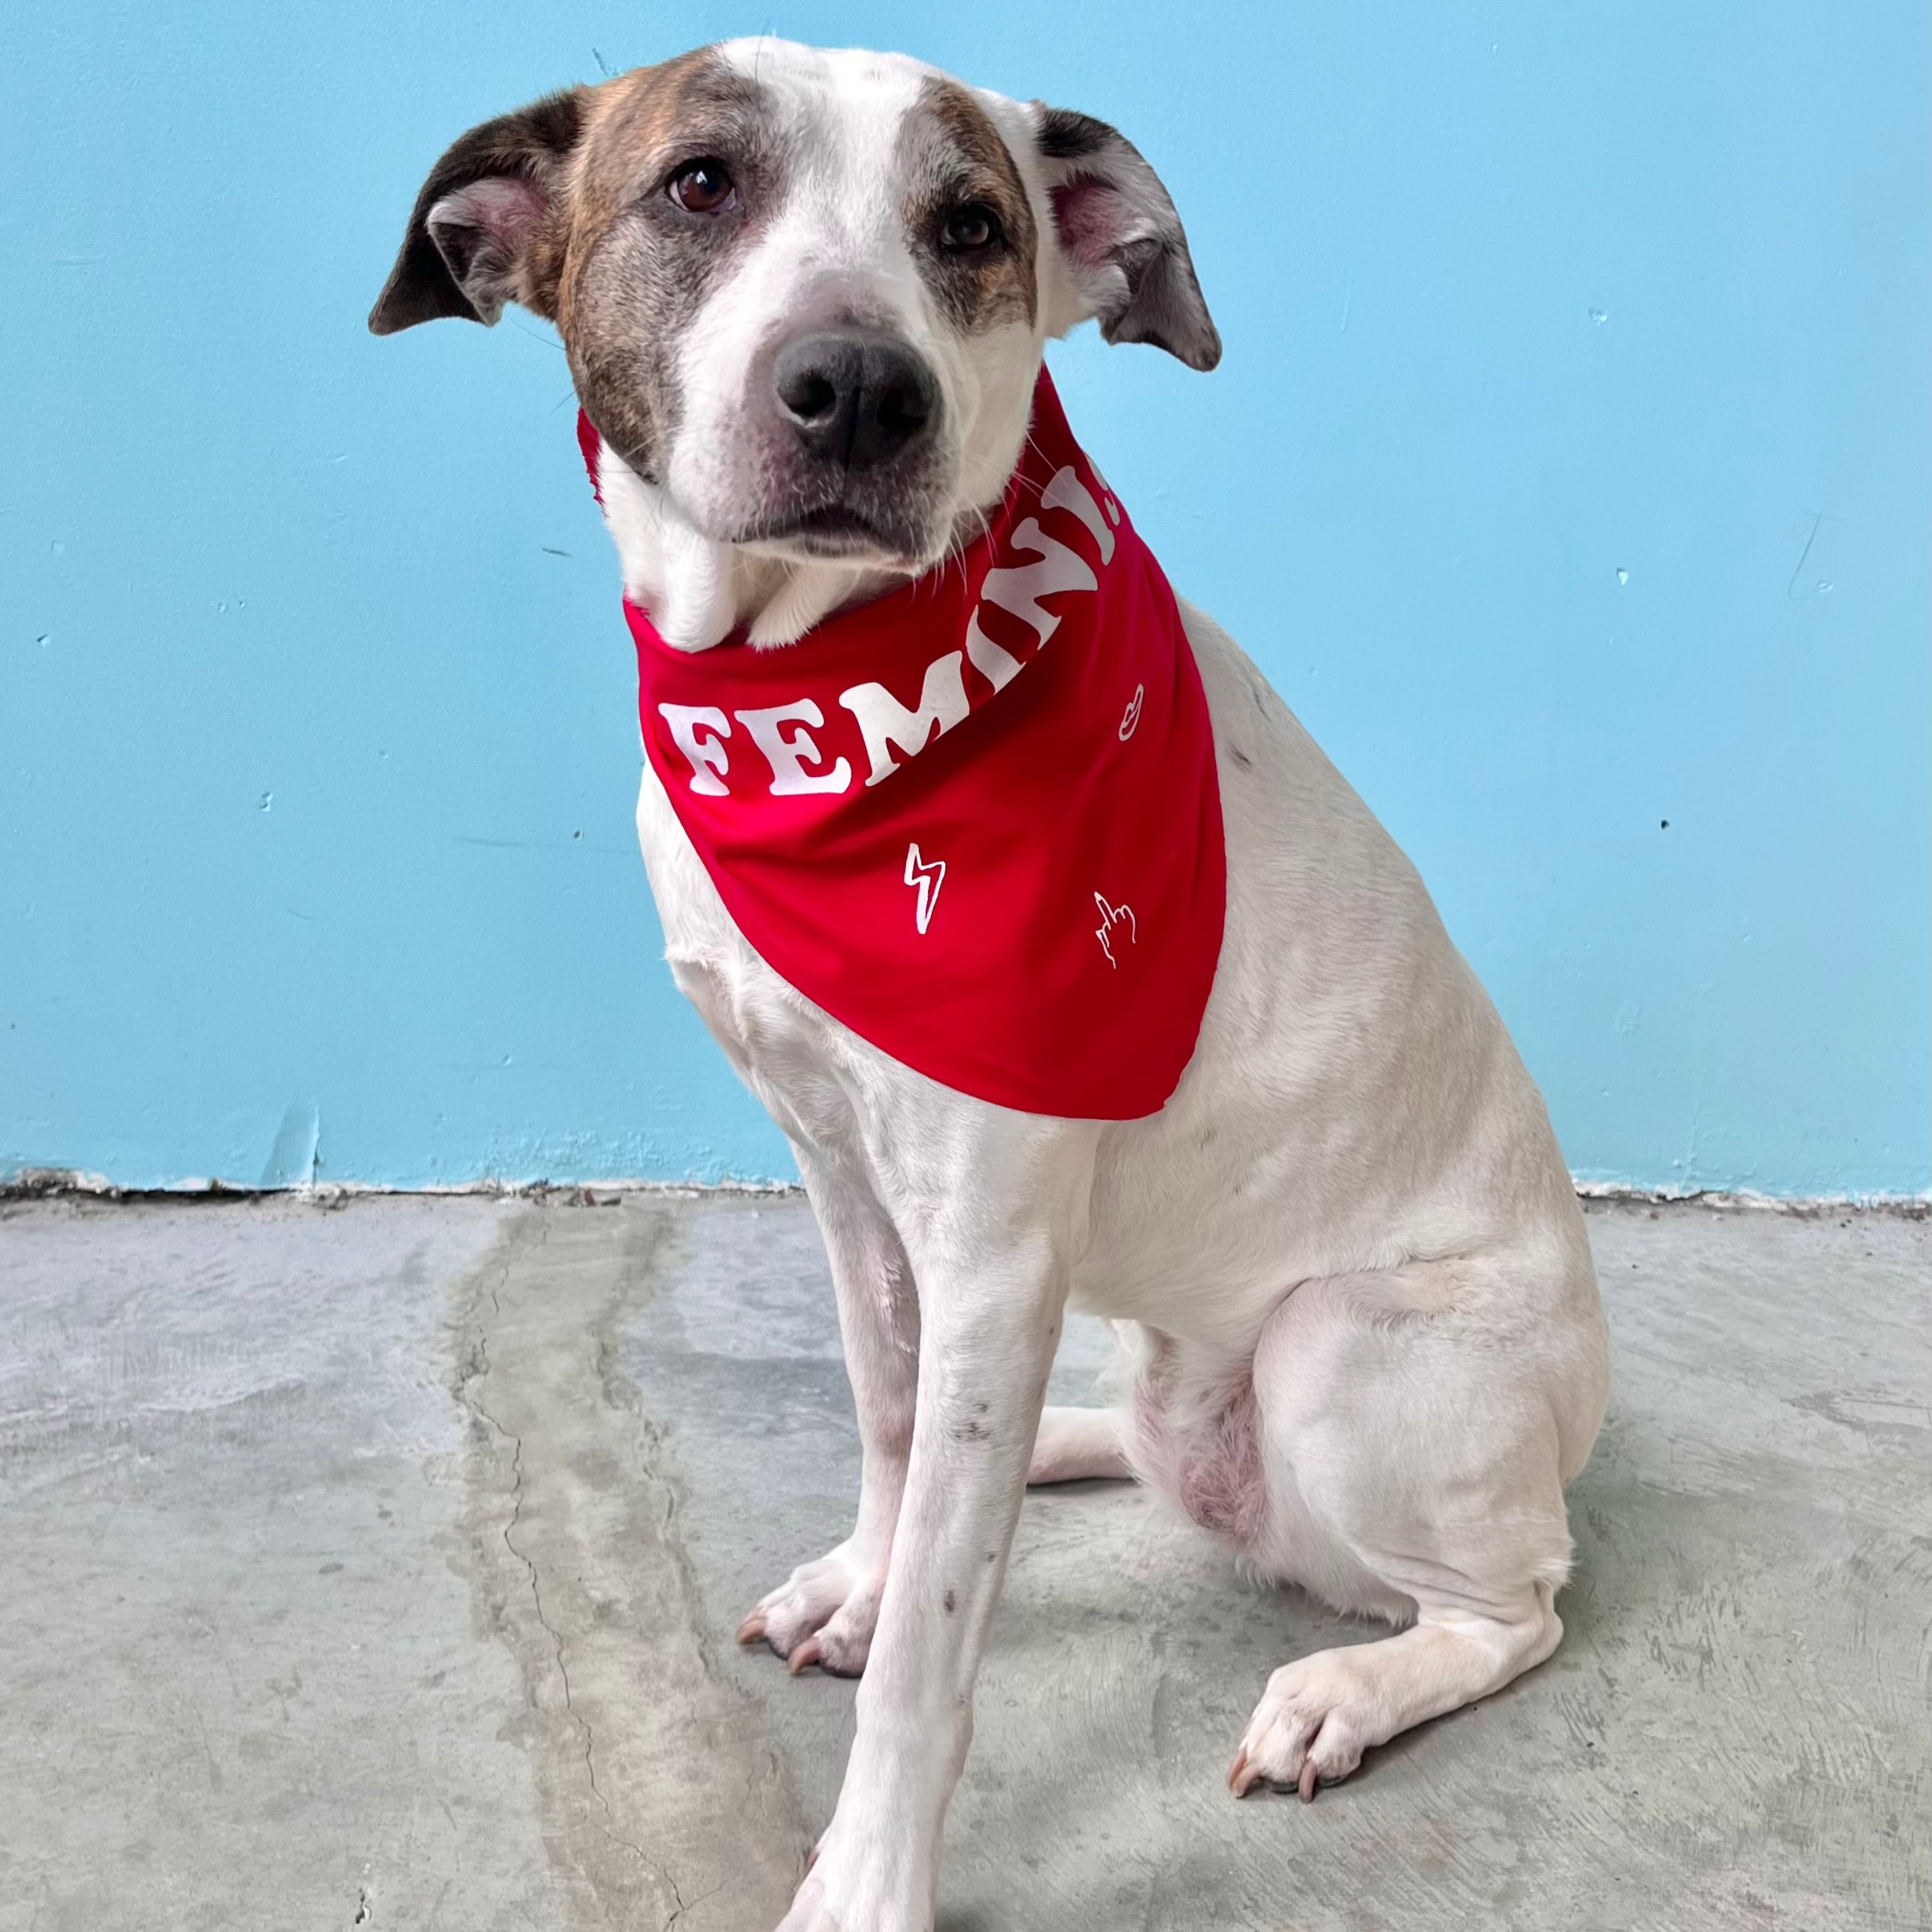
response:
<svg viewBox="0 0 1932 1932"><path fill-rule="evenodd" d="M554 1252L553 1219L537 1208L506 1235L452 1323L454 1393L471 1416L479 1611L522 1663L539 1808L553 1820L545 1843L583 1926L769 1922L775 1913L755 1899L763 1891L781 1909L788 1899L790 1833L767 1832L755 1849L734 1843L728 1853L717 1841L740 1837L742 1820L759 1814L788 1818L790 1776L769 1739L759 1745L763 1725L746 1731L748 1700L709 1654L663 1432L643 1414L616 1341L653 1293L670 1223L626 1211L624 1238L609 1242L587 1238L595 1225L560 1221ZM620 1551L611 1538L624 1513L632 1528ZM516 1600L527 1609L514 1609ZM599 1704L626 1719L612 1747L614 1785ZM566 1737L574 1748L558 1758ZM572 1779L554 1772L570 1762L574 1799ZM717 1791L703 1803L721 1779L742 1797ZM655 1911L639 1918L645 1895Z"/></svg>

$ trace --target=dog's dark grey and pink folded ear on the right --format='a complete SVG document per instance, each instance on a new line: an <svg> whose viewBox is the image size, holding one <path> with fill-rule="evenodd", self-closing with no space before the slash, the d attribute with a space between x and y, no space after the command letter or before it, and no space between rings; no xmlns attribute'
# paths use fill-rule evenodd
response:
<svg viewBox="0 0 1932 1932"><path fill-rule="evenodd" d="M1090 114L1032 102L1034 143L1053 203L1078 317L1109 342L1151 342L1190 369L1221 359L1180 216L1161 178L1122 133Z"/></svg>

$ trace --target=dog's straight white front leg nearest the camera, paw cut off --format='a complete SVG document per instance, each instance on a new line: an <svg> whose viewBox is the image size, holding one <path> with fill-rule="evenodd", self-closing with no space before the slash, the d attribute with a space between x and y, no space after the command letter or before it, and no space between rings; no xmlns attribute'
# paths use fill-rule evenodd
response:
<svg viewBox="0 0 1932 1932"><path fill-rule="evenodd" d="M1086 1240L1095 1128L989 1107L954 1124L912 1159L895 1148L887 1198L920 1296L912 1461L838 1808L781 1932L933 1922L974 1675Z"/></svg>

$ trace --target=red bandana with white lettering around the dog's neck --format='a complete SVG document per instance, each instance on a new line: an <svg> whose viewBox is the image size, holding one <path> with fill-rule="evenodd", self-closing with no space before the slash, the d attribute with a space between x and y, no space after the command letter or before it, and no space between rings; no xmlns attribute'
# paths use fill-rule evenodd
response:
<svg viewBox="0 0 1932 1932"><path fill-rule="evenodd" d="M595 485L583 415L578 439ZM624 616L645 753L773 972L962 1094L1161 1109L1221 956L1213 732L1175 593L1045 371L962 558L777 649Z"/></svg>

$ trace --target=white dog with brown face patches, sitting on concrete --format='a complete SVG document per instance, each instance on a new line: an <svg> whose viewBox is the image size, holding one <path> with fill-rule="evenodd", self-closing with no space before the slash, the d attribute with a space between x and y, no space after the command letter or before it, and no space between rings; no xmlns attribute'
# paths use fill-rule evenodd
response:
<svg viewBox="0 0 1932 1932"><path fill-rule="evenodd" d="M1192 369L1221 354L1167 189L1119 131L769 39L448 149L369 325L510 301L562 336L626 591L699 684L728 639L808 667L821 626L941 574L1016 475L1049 340L1094 319ZM1097 471L1082 495L1088 516ZM1312 1799L1561 1636L1563 1490L1607 1352L1544 1101L1395 842L1233 639L1177 609L1225 910L1159 1111L1001 1105L835 1018L750 945L690 800L645 767L670 970L796 1151L864 1447L852 1536L740 1633L794 1671L864 1673L782 1932L931 1926L1028 1482L1140 1478L1256 1575L1393 1627L1269 1677L1236 1797ZM827 755L792 730L798 771ZM703 790L738 740L692 744L674 782ZM964 885L914 846L896 889L925 933ZM1153 945L1094 896L1109 966ZM1041 1406L1066 1308L1122 1337L1115 1408Z"/></svg>

